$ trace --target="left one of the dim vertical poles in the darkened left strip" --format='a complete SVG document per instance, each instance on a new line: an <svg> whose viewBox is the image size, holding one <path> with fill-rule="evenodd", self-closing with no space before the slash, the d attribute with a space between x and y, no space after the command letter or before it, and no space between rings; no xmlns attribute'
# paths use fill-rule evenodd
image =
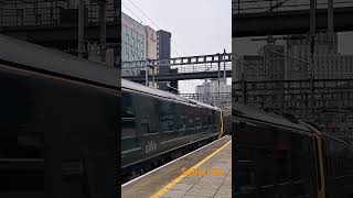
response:
<svg viewBox="0 0 353 198"><path fill-rule="evenodd" d="M85 0L79 0L78 4L78 56L84 57L85 46Z"/></svg>

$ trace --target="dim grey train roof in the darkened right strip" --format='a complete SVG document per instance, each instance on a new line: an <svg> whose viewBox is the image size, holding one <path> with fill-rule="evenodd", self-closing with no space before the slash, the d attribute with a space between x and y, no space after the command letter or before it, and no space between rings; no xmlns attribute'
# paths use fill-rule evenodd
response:
<svg viewBox="0 0 353 198"><path fill-rule="evenodd" d="M233 116L236 117L312 132L312 130L310 130L307 125L302 124L302 122L300 121L295 121L291 118L286 118L285 116L277 114L275 112L266 112L256 107L234 102L232 109Z"/></svg>

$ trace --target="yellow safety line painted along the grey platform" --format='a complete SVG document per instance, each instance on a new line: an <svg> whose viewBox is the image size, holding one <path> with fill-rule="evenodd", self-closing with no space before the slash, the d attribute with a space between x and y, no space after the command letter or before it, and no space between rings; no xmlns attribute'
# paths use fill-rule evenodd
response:
<svg viewBox="0 0 353 198"><path fill-rule="evenodd" d="M213 157L215 154L217 154L220 151L222 151L223 148L225 148L232 141L227 142L226 144L224 144L222 147L220 147L218 150L216 150L215 152L213 152L212 154L210 154L208 156L206 156L204 160L202 160L201 162L199 162L196 165L194 165L193 167L189 168L186 172L184 172L182 175L180 175L179 177L176 177L174 180L172 180L171 183L169 183L168 185L165 185L162 189L160 189L158 193L156 193L154 195L151 196L151 198L159 198L161 197L163 194L165 194L169 189L171 189L173 186L175 186L181 179L183 179L184 177L188 176L188 173L191 173L193 170L195 170L197 167L200 167L203 163L207 162L211 157Z"/></svg>

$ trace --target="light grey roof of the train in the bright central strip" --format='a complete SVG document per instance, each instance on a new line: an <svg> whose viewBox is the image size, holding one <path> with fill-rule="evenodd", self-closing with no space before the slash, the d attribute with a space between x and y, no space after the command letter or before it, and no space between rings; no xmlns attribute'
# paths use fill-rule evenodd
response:
<svg viewBox="0 0 353 198"><path fill-rule="evenodd" d="M156 97L162 97L164 99L170 99L170 100L174 100L174 101L179 101L179 102L190 103L192 106L200 106L200 107L203 107L203 108L218 110L218 111L221 110L220 108L214 107L214 106L210 106L210 105L196 101L196 100L184 98L184 97L181 97L181 96L168 92L168 91L163 91L163 90L160 90L160 89L150 88L150 87L147 87L145 85L137 84L137 82L133 82L133 81L130 81L130 80L127 80L127 79L121 79L121 87L126 88L126 89L143 92L143 94L148 94L148 95L153 95Z"/></svg>

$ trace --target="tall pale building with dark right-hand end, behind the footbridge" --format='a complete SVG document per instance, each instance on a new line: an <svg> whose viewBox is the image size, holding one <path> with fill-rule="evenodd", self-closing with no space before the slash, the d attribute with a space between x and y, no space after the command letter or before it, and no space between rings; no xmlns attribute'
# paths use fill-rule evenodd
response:
<svg viewBox="0 0 353 198"><path fill-rule="evenodd" d="M129 15L122 13L121 15L122 26L122 62L136 62L147 59L169 59L171 57L171 33L159 30L156 31L149 25L136 21ZM122 69L122 76L140 76L146 74L145 66L131 65L131 68L125 67ZM154 70L149 70L149 75L170 74L170 66L158 67ZM170 85L171 84L171 85ZM175 82L158 82L152 85L162 90L170 90L169 87L178 89Z"/></svg>

